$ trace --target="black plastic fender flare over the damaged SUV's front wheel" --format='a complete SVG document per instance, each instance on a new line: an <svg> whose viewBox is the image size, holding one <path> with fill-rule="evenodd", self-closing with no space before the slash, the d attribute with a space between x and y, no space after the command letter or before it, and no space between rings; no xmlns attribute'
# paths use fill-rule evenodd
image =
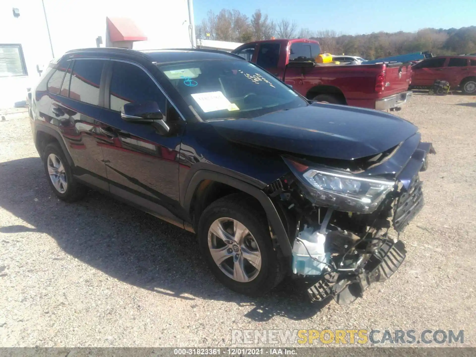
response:
<svg viewBox="0 0 476 357"><path fill-rule="evenodd" d="M197 170L189 179L188 185L186 186L187 188L185 194L183 196L182 206L187 212L190 212L190 205L196 188L198 188L200 182L206 179L224 183L258 199L259 203L265 210L266 216L269 220L269 224L271 225L271 228L273 229L273 232L276 235L276 239L278 241L282 255L286 258L292 256L291 243L289 242L288 234L286 233L286 229L284 228L283 222L279 217L275 205L265 192L263 192L256 186L244 182L241 179L234 178L232 176L208 169Z"/></svg>

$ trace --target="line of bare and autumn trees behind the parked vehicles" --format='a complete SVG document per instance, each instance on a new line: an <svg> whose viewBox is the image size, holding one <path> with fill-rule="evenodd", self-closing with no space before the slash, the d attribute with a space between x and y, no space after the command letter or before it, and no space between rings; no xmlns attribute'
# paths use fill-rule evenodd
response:
<svg viewBox="0 0 476 357"><path fill-rule="evenodd" d="M251 17L239 10L223 9L218 15L210 10L196 26L196 35L199 39L241 43L271 38L308 38L318 40L323 52L344 53L368 60L418 51L430 51L434 55L476 52L476 26L345 35L334 30L299 29L296 21L275 21L261 10L256 10Z"/></svg>

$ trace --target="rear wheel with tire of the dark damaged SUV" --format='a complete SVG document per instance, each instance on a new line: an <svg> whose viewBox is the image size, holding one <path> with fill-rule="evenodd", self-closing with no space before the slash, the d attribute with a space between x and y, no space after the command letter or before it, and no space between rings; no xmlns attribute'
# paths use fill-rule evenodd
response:
<svg viewBox="0 0 476 357"><path fill-rule="evenodd" d="M71 167L58 143L50 143L43 152L44 169L53 193L63 201L74 202L83 198L88 189L73 177Z"/></svg>

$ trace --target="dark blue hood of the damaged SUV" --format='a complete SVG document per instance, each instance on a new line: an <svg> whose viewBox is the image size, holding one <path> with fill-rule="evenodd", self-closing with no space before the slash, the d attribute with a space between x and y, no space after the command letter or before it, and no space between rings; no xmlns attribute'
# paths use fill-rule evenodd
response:
<svg viewBox="0 0 476 357"><path fill-rule="evenodd" d="M210 124L235 142L344 160L376 155L417 132L412 123L385 112L323 103Z"/></svg>

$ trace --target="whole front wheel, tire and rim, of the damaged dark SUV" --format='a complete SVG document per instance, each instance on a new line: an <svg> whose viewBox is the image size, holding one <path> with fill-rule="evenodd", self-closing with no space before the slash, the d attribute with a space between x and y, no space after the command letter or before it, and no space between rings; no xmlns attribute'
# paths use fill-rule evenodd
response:
<svg viewBox="0 0 476 357"><path fill-rule="evenodd" d="M198 244L208 267L226 287L257 296L284 277L266 214L249 198L232 194L208 206L198 222Z"/></svg>

